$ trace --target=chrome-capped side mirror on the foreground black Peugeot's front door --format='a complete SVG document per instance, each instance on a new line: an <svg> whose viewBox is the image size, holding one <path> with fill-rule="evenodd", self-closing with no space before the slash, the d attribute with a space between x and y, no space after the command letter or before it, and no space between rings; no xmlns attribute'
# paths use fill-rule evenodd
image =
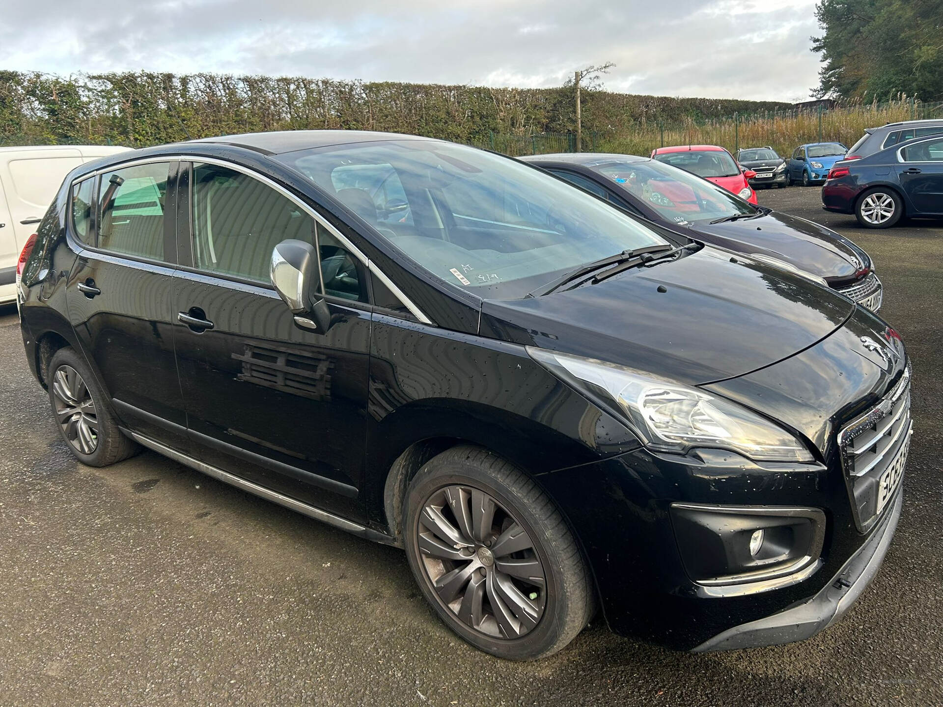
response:
<svg viewBox="0 0 943 707"><path fill-rule="evenodd" d="M304 240L283 240L272 250L269 275L295 324L318 334L330 328L331 311L318 293L321 271L314 246Z"/></svg>

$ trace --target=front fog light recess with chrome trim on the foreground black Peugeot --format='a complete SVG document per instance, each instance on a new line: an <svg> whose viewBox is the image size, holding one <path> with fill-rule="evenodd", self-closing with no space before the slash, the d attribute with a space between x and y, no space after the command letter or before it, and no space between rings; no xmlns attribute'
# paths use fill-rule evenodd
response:
<svg viewBox="0 0 943 707"><path fill-rule="evenodd" d="M673 503L671 525L691 580L741 590L744 584L763 591L784 584L769 584L773 580L804 579L819 563L825 536L825 514L818 508Z"/></svg>

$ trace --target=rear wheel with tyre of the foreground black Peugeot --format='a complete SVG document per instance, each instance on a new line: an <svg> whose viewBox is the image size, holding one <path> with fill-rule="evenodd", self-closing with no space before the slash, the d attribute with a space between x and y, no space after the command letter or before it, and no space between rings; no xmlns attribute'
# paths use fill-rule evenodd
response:
<svg viewBox="0 0 943 707"><path fill-rule="evenodd" d="M73 348L53 355L46 381L59 434L82 464L107 467L140 449L118 429L108 398Z"/></svg>

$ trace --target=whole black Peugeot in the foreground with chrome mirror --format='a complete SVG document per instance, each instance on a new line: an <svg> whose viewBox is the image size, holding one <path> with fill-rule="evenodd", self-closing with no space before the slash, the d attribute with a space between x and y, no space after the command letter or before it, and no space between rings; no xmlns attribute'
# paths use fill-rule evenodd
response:
<svg viewBox="0 0 943 707"><path fill-rule="evenodd" d="M68 175L19 270L78 460L140 445L400 546L505 658L597 610L679 649L802 639L900 517L884 321L507 157L343 131L123 153Z"/></svg>

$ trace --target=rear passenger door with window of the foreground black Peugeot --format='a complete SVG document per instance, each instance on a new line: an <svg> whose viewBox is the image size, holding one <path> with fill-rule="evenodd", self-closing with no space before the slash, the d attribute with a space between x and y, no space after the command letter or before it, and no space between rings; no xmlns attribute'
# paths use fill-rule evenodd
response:
<svg viewBox="0 0 943 707"><path fill-rule="evenodd" d="M174 360L176 160L106 170L75 183L69 318L124 424L186 451Z"/></svg>

